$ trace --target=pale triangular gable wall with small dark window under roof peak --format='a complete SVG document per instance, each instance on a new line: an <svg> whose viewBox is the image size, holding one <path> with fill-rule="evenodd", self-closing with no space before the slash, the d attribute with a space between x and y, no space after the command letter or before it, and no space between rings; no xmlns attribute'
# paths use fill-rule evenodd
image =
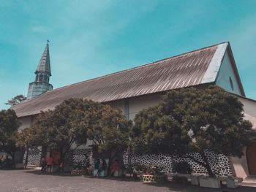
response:
<svg viewBox="0 0 256 192"><path fill-rule="evenodd" d="M230 78L233 82L233 89L230 86ZM227 51L224 55L222 65L220 66L219 74L217 75L216 85L219 85L219 87L224 88L230 93L241 95L235 72L231 66L230 56L228 55Z"/></svg>

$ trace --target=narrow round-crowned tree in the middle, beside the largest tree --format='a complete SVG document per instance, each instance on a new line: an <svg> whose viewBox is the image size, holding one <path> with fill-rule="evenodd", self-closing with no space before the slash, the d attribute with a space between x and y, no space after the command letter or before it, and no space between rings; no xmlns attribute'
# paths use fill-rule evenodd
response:
<svg viewBox="0 0 256 192"><path fill-rule="evenodd" d="M126 120L121 110L114 110L103 104L88 113L85 120L91 125L88 126L87 134L94 148L109 160L108 174L110 174L113 159L127 150L132 121ZM102 161L105 161L105 158L102 158Z"/></svg>

